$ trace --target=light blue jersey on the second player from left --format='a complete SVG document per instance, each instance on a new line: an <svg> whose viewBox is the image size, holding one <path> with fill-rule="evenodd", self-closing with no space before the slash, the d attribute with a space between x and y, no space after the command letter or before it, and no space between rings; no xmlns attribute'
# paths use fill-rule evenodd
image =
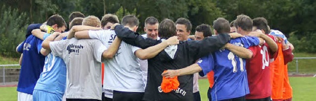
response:
<svg viewBox="0 0 316 101"><path fill-rule="evenodd" d="M44 34L46 39L50 34ZM66 64L60 57L49 53L45 57L43 72L34 90L45 91L63 97L66 89ZM33 95L34 96L34 95Z"/></svg>

